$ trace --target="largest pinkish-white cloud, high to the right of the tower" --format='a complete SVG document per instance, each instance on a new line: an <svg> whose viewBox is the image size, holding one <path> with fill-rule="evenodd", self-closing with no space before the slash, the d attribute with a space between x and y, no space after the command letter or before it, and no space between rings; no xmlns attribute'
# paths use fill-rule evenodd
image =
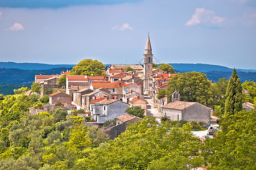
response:
<svg viewBox="0 0 256 170"><path fill-rule="evenodd" d="M196 8L195 14L192 15L192 18L188 20L188 22L185 25L220 25L224 22L224 20L225 18L221 16L216 16L216 12L214 12L213 10L205 10L205 8Z"/></svg>

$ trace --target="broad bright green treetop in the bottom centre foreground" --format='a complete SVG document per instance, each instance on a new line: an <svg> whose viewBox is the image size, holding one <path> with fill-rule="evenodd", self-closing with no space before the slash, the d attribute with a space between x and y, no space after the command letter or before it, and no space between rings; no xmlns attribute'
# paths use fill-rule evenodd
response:
<svg viewBox="0 0 256 170"><path fill-rule="evenodd" d="M163 165L163 160L168 160L171 165L166 164L158 169L172 166L173 169L192 169L202 163L200 156L194 156L199 147L200 142L191 132L183 128L172 128L168 121L159 126L155 118L147 117L128 126L124 133L108 145L93 150L87 158L77 160L74 168L154 169L156 164L162 162Z"/></svg>

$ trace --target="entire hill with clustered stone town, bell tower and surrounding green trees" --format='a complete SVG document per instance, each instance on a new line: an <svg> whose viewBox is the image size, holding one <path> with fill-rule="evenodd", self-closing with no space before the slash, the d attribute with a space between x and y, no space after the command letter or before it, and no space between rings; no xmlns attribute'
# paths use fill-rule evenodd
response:
<svg viewBox="0 0 256 170"><path fill-rule="evenodd" d="M31 90L0 95L0 167L255 167L246 156L255 154L255 82L241 84L236 69L212 82L153 57L148 35L143 64L105 69L84 59L60 74L35 75Z"/></svg>

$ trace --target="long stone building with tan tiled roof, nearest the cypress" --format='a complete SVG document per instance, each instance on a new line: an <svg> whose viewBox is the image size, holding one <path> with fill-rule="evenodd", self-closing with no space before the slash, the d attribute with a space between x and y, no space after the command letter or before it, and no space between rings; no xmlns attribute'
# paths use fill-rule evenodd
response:
<svg viewBox="0 0 256 170"><path fill-rule="evenodd" d="M162 107L162 117L171 120L210 122L211 109L197 102L175 101Z"/></svg>

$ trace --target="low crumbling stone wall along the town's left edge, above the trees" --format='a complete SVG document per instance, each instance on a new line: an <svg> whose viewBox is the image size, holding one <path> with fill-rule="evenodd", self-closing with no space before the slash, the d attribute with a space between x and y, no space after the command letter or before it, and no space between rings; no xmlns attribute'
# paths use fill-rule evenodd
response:
<svg viewBox="0 0 256 170"><path fill-rule="evenodd" d="M75 105L57 106L55 104L49 104L49 105L43 105L42 109L30 108L29 112L31 114L38 114L40 112L47 112L47 113L49 113L52 109L56 109L56 108L65 108L67 111L69 111L69 110L74 111L74 110L77 109Z"/></svg>

